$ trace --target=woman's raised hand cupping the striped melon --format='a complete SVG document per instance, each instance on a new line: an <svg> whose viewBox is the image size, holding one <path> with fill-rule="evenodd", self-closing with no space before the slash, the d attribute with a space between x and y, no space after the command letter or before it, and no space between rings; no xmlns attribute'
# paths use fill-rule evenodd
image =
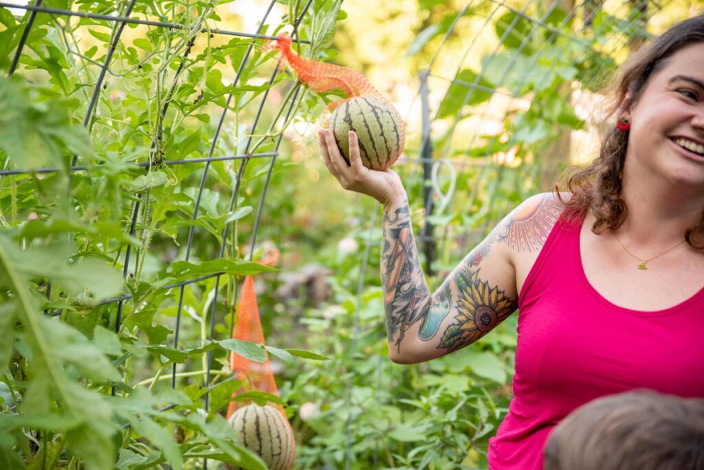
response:
<svg viewBox="0 0 704 470"><path fill-rule="evenodd" d="M322 160L344 189L372 196L383 205L406 199L406 190L403 189L401 178L396 172L370 170L362 164L355 132L349 133L350 165L347 165L340 154L332 130L321 129L318 131L318 136L320 136Z"/></svg>

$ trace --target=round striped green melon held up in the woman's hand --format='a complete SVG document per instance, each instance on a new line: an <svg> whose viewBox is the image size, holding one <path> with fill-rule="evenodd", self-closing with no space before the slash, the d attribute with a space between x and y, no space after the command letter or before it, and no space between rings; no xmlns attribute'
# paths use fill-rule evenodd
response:
<svg viewBox="0 0 704 470"><path fill-rule="evenodd" d="M357 133L362 163L372 170L384 171L393 165L406 143L406 129L398 111L389 101L376 96L344 101L330 115L329 126L347 163L348 132Z"/></svg>

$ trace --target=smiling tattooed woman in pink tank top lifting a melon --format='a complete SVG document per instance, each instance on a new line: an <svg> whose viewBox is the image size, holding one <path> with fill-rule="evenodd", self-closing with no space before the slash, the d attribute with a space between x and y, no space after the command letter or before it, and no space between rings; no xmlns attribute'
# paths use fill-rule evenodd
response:
<svg viewBox="0 0 704 470"><path fill-rule="evenodd" d="M633 388L704 397L704 16L624 65L617 125L571 195L520 204L432 294L398 176L320 151L341 186L384 205L382 284L394 362L474 343L517 308L510 409L491 469L540 469L555 424Z"/></svg>

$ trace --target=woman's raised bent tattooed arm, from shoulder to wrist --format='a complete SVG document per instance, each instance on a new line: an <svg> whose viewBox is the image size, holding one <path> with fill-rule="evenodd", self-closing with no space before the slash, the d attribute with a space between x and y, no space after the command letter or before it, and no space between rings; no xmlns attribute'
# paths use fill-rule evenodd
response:
<svg viewBox="0 0 704 470"><path fill-rule="evenodd" d="M529 198L498 224L431 295L406 201L384 205L382 285L389 355L414 363L474 343L517 307L515 262L533 258L560 214L552 195Z"/></svg>

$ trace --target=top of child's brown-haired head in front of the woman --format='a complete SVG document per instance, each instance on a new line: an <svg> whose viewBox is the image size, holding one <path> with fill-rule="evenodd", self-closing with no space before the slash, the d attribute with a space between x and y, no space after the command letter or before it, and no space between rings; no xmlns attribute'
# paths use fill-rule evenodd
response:
<svg viewBox="0 0 704 470"><path fill-rule="evenodd" d="M544 470L704 470L704 399L631 391L555 426Z"/></svg>

